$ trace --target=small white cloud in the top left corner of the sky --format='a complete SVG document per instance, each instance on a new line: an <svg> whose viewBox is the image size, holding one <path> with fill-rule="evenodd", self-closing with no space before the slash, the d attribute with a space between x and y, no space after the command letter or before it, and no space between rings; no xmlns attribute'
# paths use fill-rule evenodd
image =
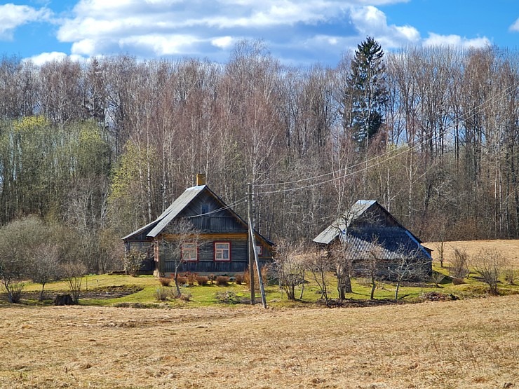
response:
<svg viewBox="0 0 519 389"><path fill-rule="evenodd" d="M0 39L13 39L16 28L29 22L50 20L52 16L48 8L32 8L15 4L0 5Z"/></svg>

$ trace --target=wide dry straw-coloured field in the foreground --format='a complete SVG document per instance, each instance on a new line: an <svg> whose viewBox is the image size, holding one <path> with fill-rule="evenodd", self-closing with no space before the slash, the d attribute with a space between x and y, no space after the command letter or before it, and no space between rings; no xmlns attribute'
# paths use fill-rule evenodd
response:
<svg viewBox="0 0 519 389"><path fill-rule="evenodd" d="M1 388L516 388L519 296L374 308L0 307Z"/></svg>

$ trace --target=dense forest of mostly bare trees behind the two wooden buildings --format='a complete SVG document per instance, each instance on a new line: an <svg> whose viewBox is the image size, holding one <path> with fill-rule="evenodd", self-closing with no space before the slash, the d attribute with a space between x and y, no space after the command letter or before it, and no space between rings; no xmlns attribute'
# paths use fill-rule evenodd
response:
<svg viewBox="0 0 519 389"><path fill-rule="evenodd" d="M251 182L274 240L311 240L358 199L423 240L518 238L518 100L518 53L495 47L368 38L335 68L283 66L259 41L224 64L4 56L0 222L63 226L105 271L204 172L242 215Z"/></svg>

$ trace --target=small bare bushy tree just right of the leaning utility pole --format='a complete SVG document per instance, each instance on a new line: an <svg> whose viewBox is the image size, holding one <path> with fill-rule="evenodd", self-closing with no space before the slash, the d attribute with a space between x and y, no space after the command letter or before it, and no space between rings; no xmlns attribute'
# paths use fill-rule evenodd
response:
<svg viewBox="0 0 519 389"><path fill-rule="evenodd" d="M285 290L289 300L295 300L295 287L304 282L304 246L283 240L276 246L274 266L279 285Z"/></svg>

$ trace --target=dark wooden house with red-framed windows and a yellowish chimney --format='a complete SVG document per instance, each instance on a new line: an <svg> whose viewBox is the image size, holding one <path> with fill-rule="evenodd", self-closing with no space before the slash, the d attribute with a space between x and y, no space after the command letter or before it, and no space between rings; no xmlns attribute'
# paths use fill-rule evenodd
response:
<svg viewBox="0 0 519 389"><path fill-rule="evenodd" d="M248 268L247 223L205 184L205 175L196 179L196 186L186 189L154 221L122 238L126 252L147 253L142 271L167 276L179 266L179 272L234 275ZM196 237L175 240L168 227L180 220L192 224ZM172 241L180 250L166 250L164 243ZM255 231L255 245L260 266L270 263L274 244Z"/></svg>

